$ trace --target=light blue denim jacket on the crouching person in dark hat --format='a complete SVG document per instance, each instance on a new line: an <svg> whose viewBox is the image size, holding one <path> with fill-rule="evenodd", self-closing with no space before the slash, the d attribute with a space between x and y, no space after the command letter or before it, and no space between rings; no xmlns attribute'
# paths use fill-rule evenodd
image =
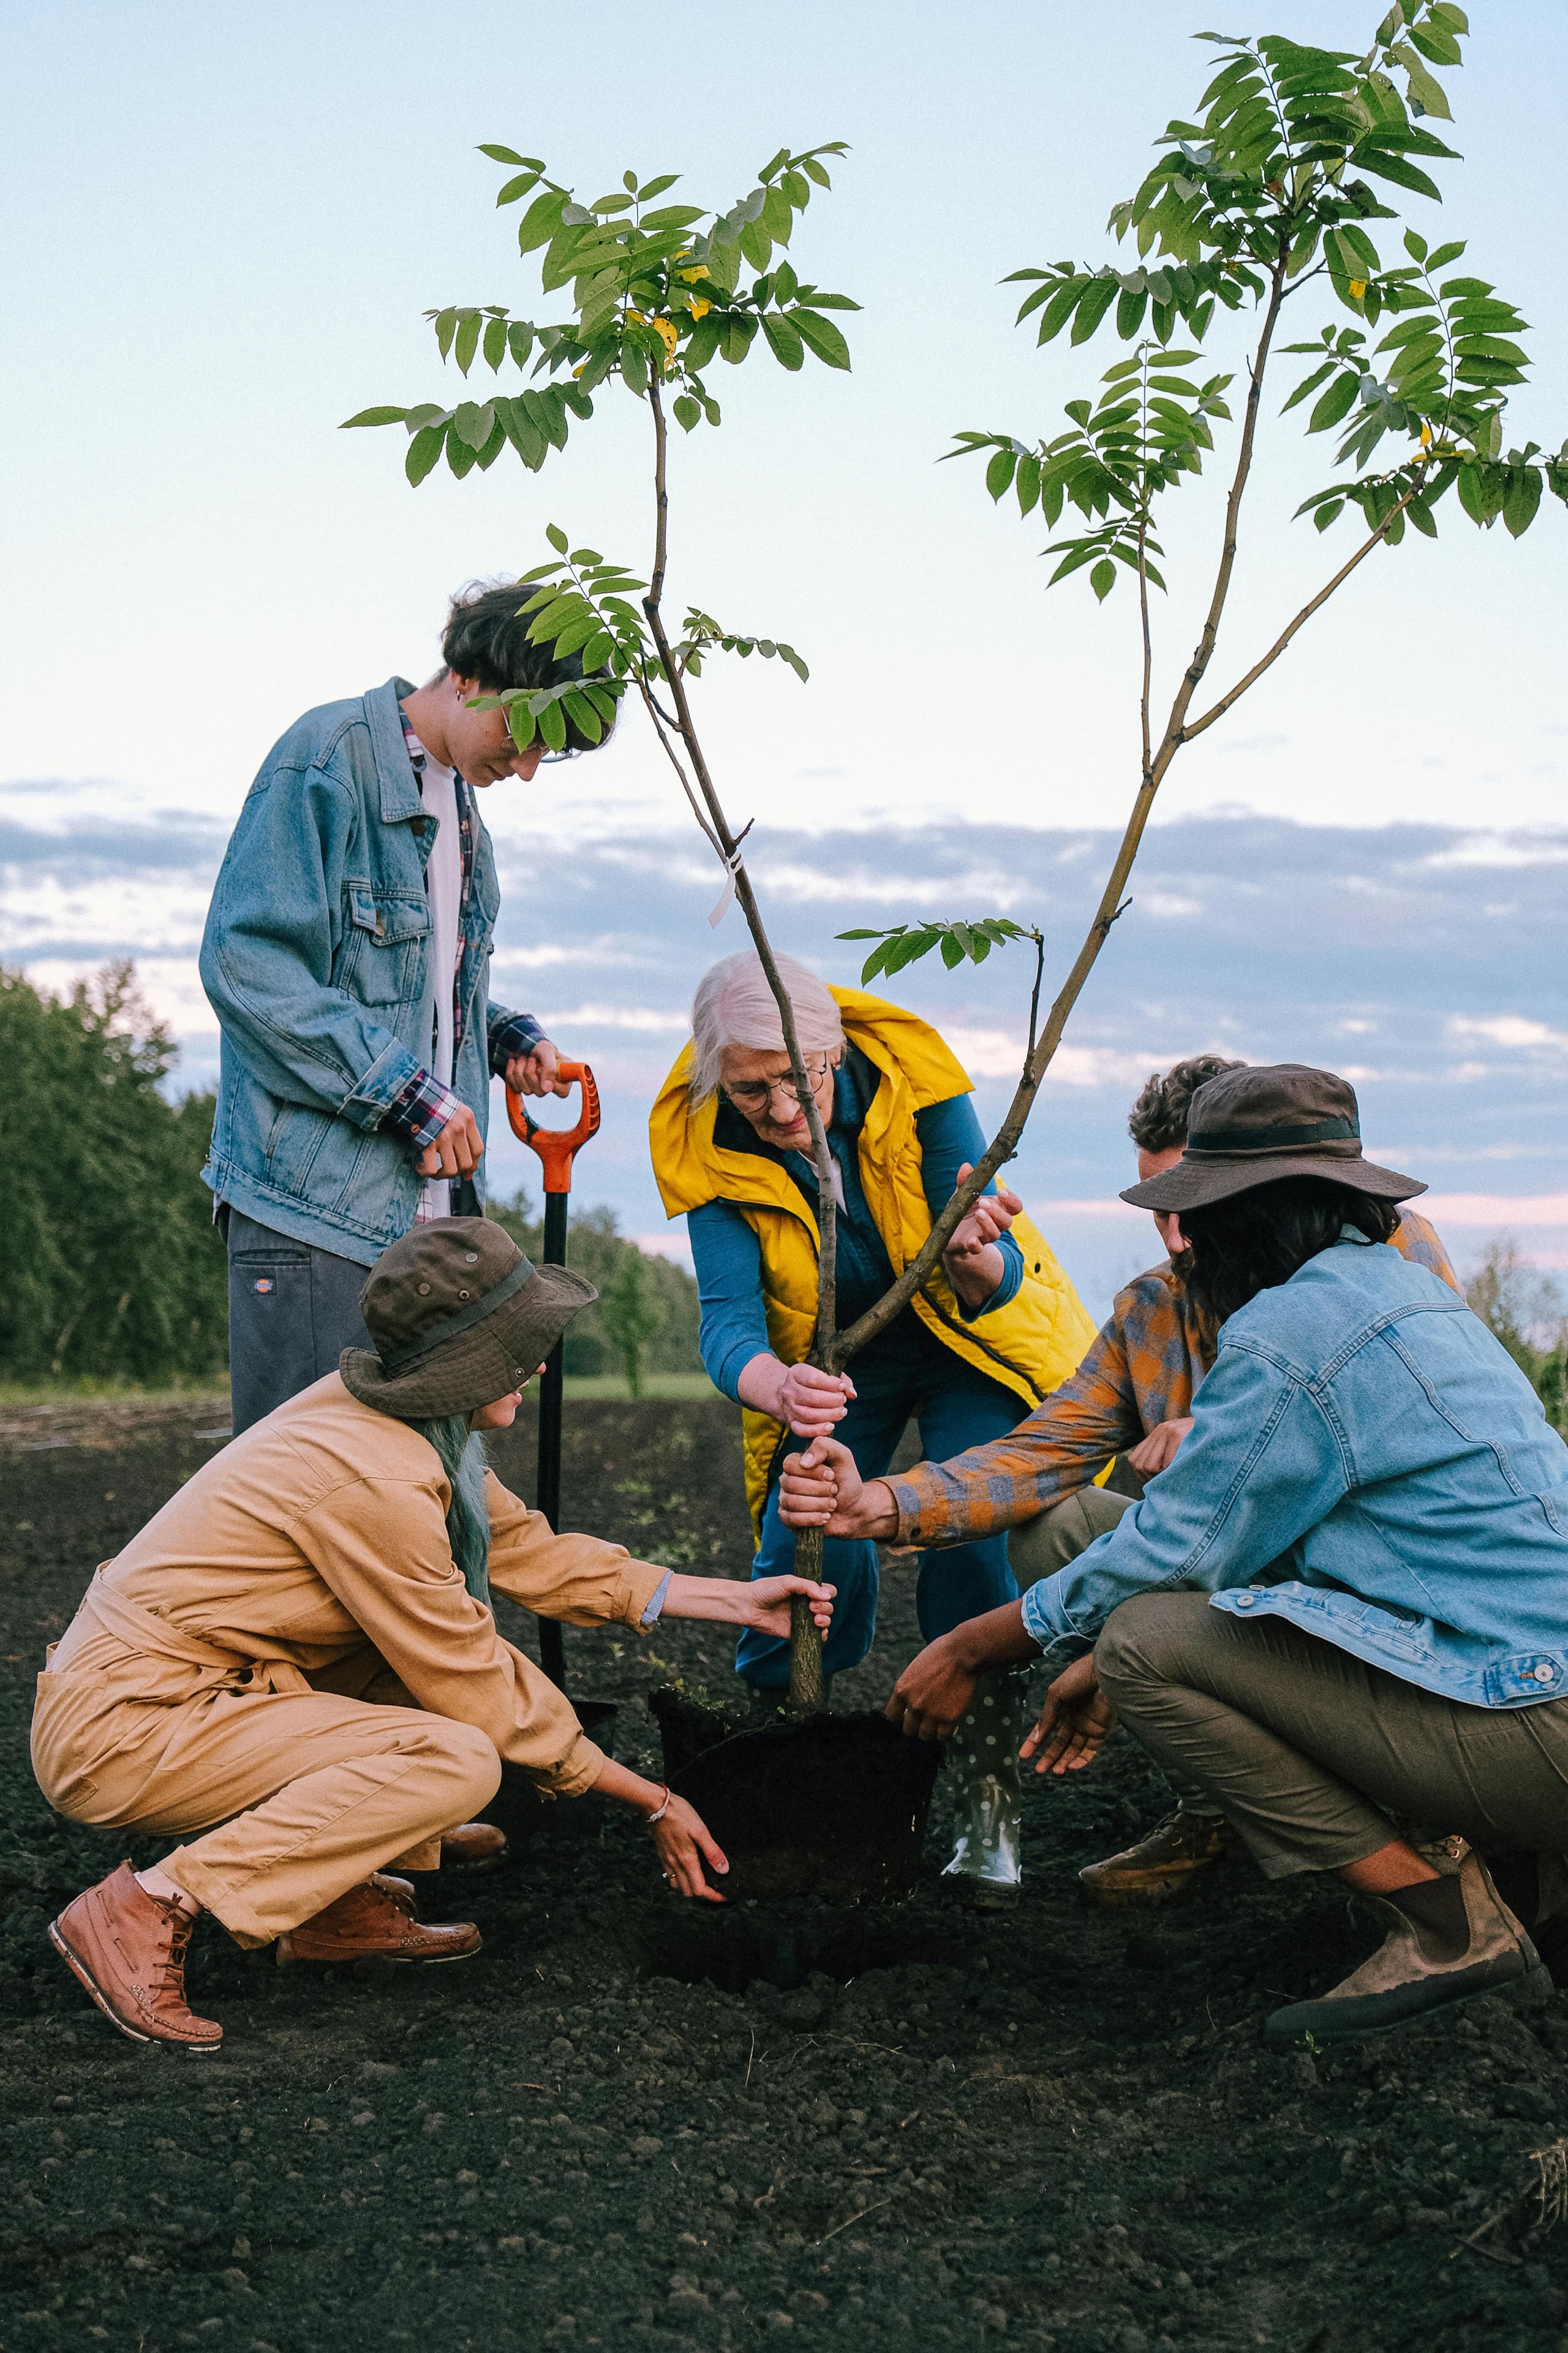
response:
<svg viewBox="0 0 1568 2353"><path fill-rule="evenodd" d="M1225 1322L1171 1468L1023 1617L1067 1659L1171 1591L1467 1706L1561 1699L1568 1447L1446 1282L1345 1228Z"/></svg>

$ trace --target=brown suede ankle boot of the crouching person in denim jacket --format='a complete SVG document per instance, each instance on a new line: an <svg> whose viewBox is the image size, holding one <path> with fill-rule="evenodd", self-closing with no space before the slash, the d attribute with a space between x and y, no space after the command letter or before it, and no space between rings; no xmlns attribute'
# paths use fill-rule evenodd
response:
<svg viewBox="0 0 1568 2353"><path fill-rule="evenodd" d="M1385 2035L1474 1993L1495 1993L1523 1977L1544 1981L1530 1937L1474 1852L1455 1873L1356 1901L1387 1922L1387 1937L1321 2000L1291 2002L1265 2019L1262 2040L1272 2049L1307 2035L1314 2042Z"/></svg>

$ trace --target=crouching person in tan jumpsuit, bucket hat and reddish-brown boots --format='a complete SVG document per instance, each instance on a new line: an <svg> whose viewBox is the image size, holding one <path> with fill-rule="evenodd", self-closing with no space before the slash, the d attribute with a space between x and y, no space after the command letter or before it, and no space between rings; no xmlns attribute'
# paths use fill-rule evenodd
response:
<svg viewBox="0 0 1568 2353"><path fill-rule="evenodd" d="M639 1812L665 1880L712 1897L726 1861L698 1814L607 1758L503 1642L489 1588L571 1626L663 1612L788 1631L830 1586L672 1577L557 1537L484 1468L473 1431L520 1393L595 1299L534 1268L489 1219L416 1226L362 1292L376 1351L233 1440L106 1562L38 1678L33 1769L75 1821L181 1838L122 1864L49 1927L99 2009L141 2042L216 2049L186 2005L190 1927L280 1960L458 1960L473 1925L414 1918L383 1866L433 1871L444 1831L522 1765L552 1798Z"/></svg>

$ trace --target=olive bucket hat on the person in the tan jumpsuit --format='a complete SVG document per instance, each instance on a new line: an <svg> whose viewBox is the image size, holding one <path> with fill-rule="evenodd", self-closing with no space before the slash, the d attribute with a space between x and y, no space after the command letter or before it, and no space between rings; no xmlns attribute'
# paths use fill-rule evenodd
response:
<svg viewBox="0 0 1568 2353"><path fill-rule="evenodd" d="M402 1421L473 1414L543 1365L597 1299L564 1266L534 1266L491 1217L414 1226L376 1259L360 1313L376 1341L343 1348L343 1386Z"/></svg>

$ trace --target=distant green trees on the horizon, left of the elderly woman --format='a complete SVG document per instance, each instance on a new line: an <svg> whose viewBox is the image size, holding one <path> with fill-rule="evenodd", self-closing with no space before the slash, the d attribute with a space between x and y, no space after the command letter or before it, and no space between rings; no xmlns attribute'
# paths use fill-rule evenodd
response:
<svg viewBox="0 0 1568 2353"><path fill-rule="evenodd" d="M228 1369L228 1266L202 1162L212 1094L169 1101L176 1047L129 962L68 998L0 967L0 1381L169 1386ZM527 1198L491 1214L541 1254ZM571 1264L602 1299L567 1372L701 1372L696 1282L571 1219Z"/></svg>

